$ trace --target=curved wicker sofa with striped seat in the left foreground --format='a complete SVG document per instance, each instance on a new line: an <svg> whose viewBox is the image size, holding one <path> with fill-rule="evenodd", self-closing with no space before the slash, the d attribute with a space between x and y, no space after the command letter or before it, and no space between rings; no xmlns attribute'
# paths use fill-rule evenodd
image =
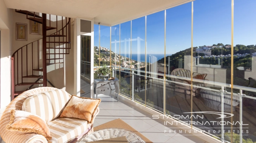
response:
<svg viewBox="0 0 256 143"><path fill-rule="evenodd" d="M2 114L0 120L0 135L5 141L5 143L69 143L74 140L81 133L90 134L93 132L93 121L88 124L87 121L82 119L73 119L73 118L55 118L52 121L47 122L47 126L50 129L50 133L52 136L52 140L47 141L45 137L36 133L12 133L6 129L7 124L10 123L10 111L12 109L21 110L23 102L33 95L45 93L45 92L53 92L57 90L53 87L39 87L35 89L31 89L23 92L19 96L17 96L10 104L6 107L5 111ZM63 91L62 91L63 92ZM66 91L64 91L65 95L69 95ZM57 92L55 92L57 93ZM62 95L64 95L62 94ZM63 97L66 98L66 97ZM55 101L67 104L69 99L67 99L66 103L64 99L61 99L59 95L54 97ZM57 99L57 100L56 100ZM55 102L51 101L51 102ZM40 101L41 102L41 101ZM62 103L61 103L62 102ZM59 103L57 103L59 105ZM40 108L41 104L40 104ZM63 109L60 108L63 111ZM99 113L99 107L94 112L93 117L95 117Z"/></svg>

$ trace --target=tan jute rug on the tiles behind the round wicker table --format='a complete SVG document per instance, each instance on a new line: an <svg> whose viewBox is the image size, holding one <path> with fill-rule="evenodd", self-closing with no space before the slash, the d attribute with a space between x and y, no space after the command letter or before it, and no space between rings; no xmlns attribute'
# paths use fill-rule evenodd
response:
<svg viewBox="0 0 256 143"><path fill-rule="evenodd" d="M133 129L130 125L126 124L123 120L121 119L115 119L112 121L109 121L105 124L101 124L97 127L93 127L94 131L99 131L101 129L107 129L107 128L119 128L119 129L125 129L127 131L130 131L132 133L137 134L142 140L144 140L146 143L153 143L150 141L148 138L146 138L144 135L142 135L140 132L136 131Z"/></svg>

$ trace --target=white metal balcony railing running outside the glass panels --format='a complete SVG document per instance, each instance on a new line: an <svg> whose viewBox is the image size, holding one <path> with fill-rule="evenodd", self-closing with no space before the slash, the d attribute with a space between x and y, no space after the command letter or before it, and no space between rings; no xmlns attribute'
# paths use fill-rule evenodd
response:
<svg viewBox="0 0 256 143"><path fill-rule="evenodd" d="M121 73L125 73L125 74L128 74L130 75L131 74L131 97L127 96L127 95L124 95L121 92L119 92L121 95L131 99L133 102L137 102L139 104L142 104L144 105L145 107L149 107L150 109L154 109L155 111L157 112L160 112L161 114L163 114L163 116L172 116L174 115L175 113L172 113L172 112L169 112L167 113L167 110L165 109L166 108L166 95L164 93L166 93L164 90L166 90L166 87L167 87L167 84L164 84L164 82L166 83L176 83L176 84L180 84L180 85L187 85L187 86L192 86L192 87L197 87L199 89L205 89L205 90L210 90L210 91L214 91L214 92L219 92L220 95L221 95L221 112L220 114L222 116L225 116L223 113L225 112L224 111L224 107L227 107L227 105L224 105L224 104L227 104L227 103L224 103L224 100L227 98L225 97L225 94L227 95L233 95L233 97L239 97L239 123L241 123L239 125L239 136L240 138L242 138L243 136L243 128L246 128L246 127L243 127L243 99L247 98L247 99L253 99L253 100L256 100L256 97L252 97L252 96L248 96L248 95L245 95L245 94L242 94L243 90L244 91L251 91L251 92L256 92L256 89L254 88L251 88L251 87L243 87L243 86L238 86L238 85L234 85L233 86L233 89L238 89L239 90L239 93L231 93L231 92L228 92L226 91L225 89L230 89L231 88L231 84L227 84L227 83L220 83L220 82L213 82L213 81L208 81L208 80L199 80L199 79L191 79L191 78L187 78L187 77L180 77L180 76L175 76L175 75L164 75L162 73L155 73L155 72L145 72L145 71L142 71L142 70L135 70L135 69L130 69L130 68L123 68L123 67L119 67L119 66L111 66L112 67L112 77L115 77L115 75L117 74L117 72L119 74ZM96 67L95 67L96 68ZM97 67L98 68L98 67ZM135 73L137 72L137 73ZM138 73L146 73L145 75L142 75L142 74L138 74ZM155 75L155 76L152 76L152 75ZM152 81L155 80L155 81L158 81L159 83L163 83L163 85L157 85L157 86L163 86L161 88L158 88L158 90L162 90L162 93L163 93L163 102L161 102L163 104L162 107L159 107L159 106L152 106L150 105L150 102L147 101L147 99L145 98L144 100L141 100L141 99L137 99L135 100L135 92L137 92L138 88L136 87L136 84L138 84L136 81L135 81L135 77L138 76L138 77L144 77L144 79L149 79L149 80L146 80L145 82L145 87L143 87L140 91L143 91L143 90L147 90L149 88L152 87L152 85L147 84L147 82L151 82L152 84ZM163 79L161 78L156 78L157 76L162 76L164 77ZM119 78L119 77L118 77ZM176 78L176 79L180 79L180 80L187 80L187 81L191 81L193 80L193 82L198 82L198 83L204 83L204 84L207 84L207 85L212 85L212 86L215 86L215 87L219 87L220 90L217 90L217 89L211 89L209 87L202 87L202 86L196 86L196 85L190 85L190 84L186 84L186 83L181 83L181 82L175 82L175 81L172 81L172 80L167 80L166 78ZM165 80L164 80L165 79ZM164 86L165 85L165 86ZM149 88L147 88L147 86L149 86ZM140 87L139 87L140 88ZM234 99L233 99L234 100ZM233 101L232 101L233 102ZM192 104L192 103L191 103ZM229 106L231 106L231 103L229 103ZM232 110L232 107L231 107L231 110ZM193 112L193 109L192 111ZM178 121L180 121L179 119L177 119ZM224 118L221 118L221 122L224 121ZM205 127L205 126L202 126L202 127ZM211 136L214 136L216 138L220 138L220 140L224 141L224 133L225 133L225 128L227 128L227 126L224 126L223 124L221 125L221 134L216 136L214 134L209 134ZM201 129L200 127L195 127L193 126L193 129L197 129L199 131L203 131L203 129Z"/></svg>

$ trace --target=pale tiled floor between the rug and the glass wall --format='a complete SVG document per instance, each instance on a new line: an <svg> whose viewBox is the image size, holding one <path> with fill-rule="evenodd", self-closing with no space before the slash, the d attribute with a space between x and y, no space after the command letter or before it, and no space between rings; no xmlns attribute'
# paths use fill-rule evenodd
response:
<svg viewBox="0 0 256 143"><path fill-rule="evenodd" d="M152 119L152 114L124 100L120 99L117 102L114 96L103 94L98 95L98 98L102 101L94 126L120 118L154 143L208 143L195 135L184 136L184 133L164 133L166 128L175 130L176 126L164 126L162 119Z"/></svg>

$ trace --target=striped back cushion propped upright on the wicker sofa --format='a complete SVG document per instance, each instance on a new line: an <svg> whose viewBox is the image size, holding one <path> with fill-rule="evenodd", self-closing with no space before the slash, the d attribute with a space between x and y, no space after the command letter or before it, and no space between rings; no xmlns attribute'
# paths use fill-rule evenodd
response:
<svg viewBox="0 0 256 143"><path fill-rule="evenodd" d="M22 111L31 112L46 122L59 117L71 98L64 89L55 89L33 95L23 102Z"/></svg>

